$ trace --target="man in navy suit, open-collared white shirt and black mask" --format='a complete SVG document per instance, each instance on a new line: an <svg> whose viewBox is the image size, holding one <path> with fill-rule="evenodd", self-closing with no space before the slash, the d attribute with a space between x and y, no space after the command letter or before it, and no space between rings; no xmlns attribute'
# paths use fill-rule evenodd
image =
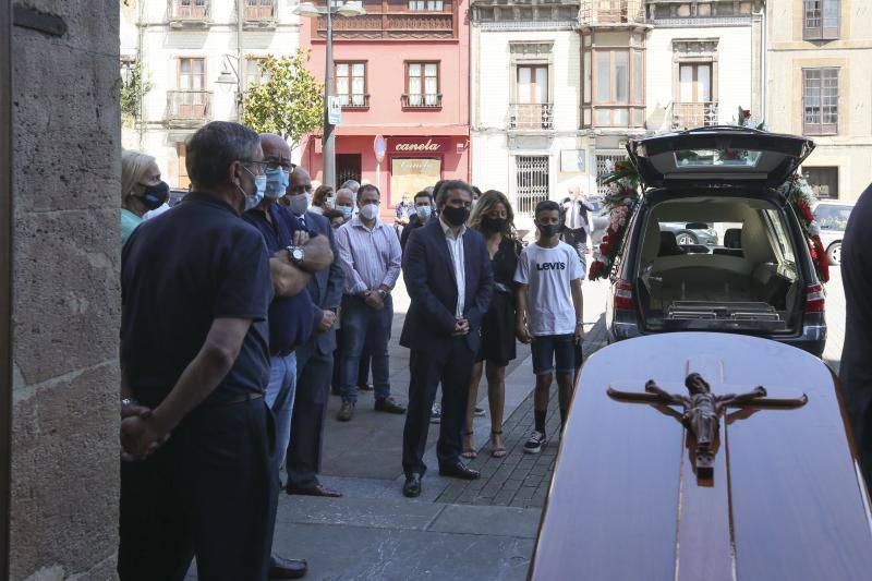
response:
<svg viewBox="0 0 872 581"><path fill-rule="evenodd" d="M412 300L400 337L400 344L411 349L402 443L402 493L408 497L421 494L431 408L440 382L439 474L465 480L480 475L460 461L460 431L494 276L484 238L465 227L471 205L472 189L467 183L445 182L436 196L439 218L409 235L403 255L403 278Z"/></svg>

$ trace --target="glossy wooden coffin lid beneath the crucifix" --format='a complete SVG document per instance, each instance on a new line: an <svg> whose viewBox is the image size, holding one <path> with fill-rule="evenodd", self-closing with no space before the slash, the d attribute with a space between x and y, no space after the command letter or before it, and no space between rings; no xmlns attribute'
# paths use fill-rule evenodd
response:
<svg viewBox="0 0 872 581"><path fill-rule="evenodd" d="M794 409L729 408L711 479L677 415L609 397L654 379L687 394L762 385ZM671 412L670 412L671 410ZM678 412L678 413L676 413ZM869 580L868 495L836 379L775 341L681 332L621 341L584 365L560 443L530 577L535 580Z"/></svg>

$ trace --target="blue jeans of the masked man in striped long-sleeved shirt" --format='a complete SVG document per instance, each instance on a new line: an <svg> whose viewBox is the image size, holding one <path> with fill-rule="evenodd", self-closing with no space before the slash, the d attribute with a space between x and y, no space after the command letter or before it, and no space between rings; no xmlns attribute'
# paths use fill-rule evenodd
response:
<svg viewBox="0 0 872 581"><path fill-rule="evenodd" d="M358 373L364 344L373 358L373 388L376 399L390 396L388 341L393 322L393 301L385 296L380 311L363 299L349 294L342 298L342 361L340 390L342 401L358 401Z"/></svg>

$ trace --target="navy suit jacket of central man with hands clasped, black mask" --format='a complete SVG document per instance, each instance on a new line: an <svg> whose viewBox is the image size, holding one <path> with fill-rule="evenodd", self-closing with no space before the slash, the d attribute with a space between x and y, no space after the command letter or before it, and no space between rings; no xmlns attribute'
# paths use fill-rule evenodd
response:
<svg viewBox="0 0 872 581"><path fill-rule="evenodd" d="M481 343L482 318L494 293L491 257L482 234L463 234L465 299L463 316L470 322L467 343L472 351ZM405 315L400 344L413 351L450 347L457 308L457 278L440 220L429 220L409 235L402 257L402 274L412 304Z"/></svg>

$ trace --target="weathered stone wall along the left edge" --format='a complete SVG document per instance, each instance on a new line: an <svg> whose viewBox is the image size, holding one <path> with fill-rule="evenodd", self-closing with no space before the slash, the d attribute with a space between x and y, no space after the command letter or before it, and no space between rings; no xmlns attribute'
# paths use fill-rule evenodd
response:
<svg viewBox="0 0 872 581"><path fill-rule="evenodd" d="M14 7L11 579L111 579L119 2Z"/></svg>

